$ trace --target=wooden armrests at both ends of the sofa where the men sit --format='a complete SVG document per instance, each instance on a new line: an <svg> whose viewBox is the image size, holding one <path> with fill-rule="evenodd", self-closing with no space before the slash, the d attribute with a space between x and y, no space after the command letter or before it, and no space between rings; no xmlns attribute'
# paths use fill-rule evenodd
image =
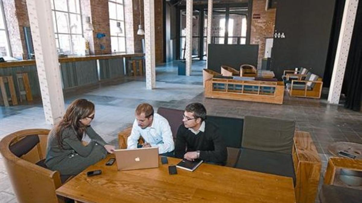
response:
<svg viewBox="0 0 362 203"><path fill-rule="evenodd" d="M118 134L119 148L127 148L127 138L132 127ZM292 159L295 171L295 199L297 203L314 203L321 170L321 160L311 135L304 131L295 131ZM278 191L275 191L276 193Z"/></svg>

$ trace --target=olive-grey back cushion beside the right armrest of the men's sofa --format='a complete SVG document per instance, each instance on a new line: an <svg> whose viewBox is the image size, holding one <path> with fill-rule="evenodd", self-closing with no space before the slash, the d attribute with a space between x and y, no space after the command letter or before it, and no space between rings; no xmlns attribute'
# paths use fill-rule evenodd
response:
<svg viewBox="0 0 362 203"><path fill-rule="evenodd" d="M241 146L253 150L291 154L295 121L245 116Z"/></svg>

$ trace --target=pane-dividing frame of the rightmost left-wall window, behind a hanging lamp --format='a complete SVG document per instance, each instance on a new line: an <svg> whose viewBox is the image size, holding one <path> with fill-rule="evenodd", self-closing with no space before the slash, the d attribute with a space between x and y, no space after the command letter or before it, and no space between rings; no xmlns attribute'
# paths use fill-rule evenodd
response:
<svg viewBox="0 0 362 203"><path fill-rule="evenodd" d="M108 0L108 5L109 3L114 3L116 5L116 8L115 8L115 16L116 16L116 19L114 18L109 18L109 30L111 30L111 21L115 21L116 23L117 22L121 22L123 23L123 30L122 30L122 33L124 33L125 36L118 36L117 35L112 35L110 33L110 41L111 41L111 53L127 53L127 40L126 40L126 19L125 19L125 0L122 0L122 3L119 3L118 2L119 0ZM118 20L118 15L117 15L117 4L119 5L122 5L123 6L123 20ZM110 9L108 8L108 16L109 16L109 11ZM122 26L121 26L122 27ZM117 50L116 52L113 52L113 48L112 48L112 37L116 37L117 38ZM125 40L125 51L119 51L120 47L119 47L119 38L123 38Z"/></svg>

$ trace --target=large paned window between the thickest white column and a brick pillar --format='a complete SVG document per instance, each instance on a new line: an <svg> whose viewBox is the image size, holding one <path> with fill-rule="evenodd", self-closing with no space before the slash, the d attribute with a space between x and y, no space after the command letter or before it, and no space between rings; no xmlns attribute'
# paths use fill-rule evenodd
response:
<svg viewBox="0 0 362 203"><path fill-rule="evenodd" d="M56 48L59 53L84 52L82 16L79 0L50 0Z"/></svg>

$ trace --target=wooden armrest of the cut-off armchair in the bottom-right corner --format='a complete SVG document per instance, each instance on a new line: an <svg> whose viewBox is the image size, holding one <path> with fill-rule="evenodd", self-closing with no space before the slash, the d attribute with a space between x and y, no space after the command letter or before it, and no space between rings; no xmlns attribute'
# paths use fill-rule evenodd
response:
<svg viewBox="0 0 362 203"><path fill-rule="evenodd" d="M324 174L324 184L331 185L334 182L336 170L340 168L362 171L362 160L330 157Z"/></svg>

